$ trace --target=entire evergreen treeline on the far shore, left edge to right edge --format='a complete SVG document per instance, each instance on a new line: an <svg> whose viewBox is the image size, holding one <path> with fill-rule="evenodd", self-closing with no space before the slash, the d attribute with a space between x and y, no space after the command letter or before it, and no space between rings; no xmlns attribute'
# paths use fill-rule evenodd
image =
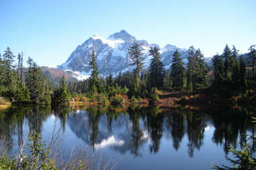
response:
<svg viewBox="0 0 256 170"><path fill-rule="evenodd" d="M159 48L151 48L151 64L144 69L144 54L141 44L134 43L128 50L133 72L125 72L113 77L99 77L95 52L91 54L91 78L65 84L62 76L58 88L42 74L40 67L28 58L28 68L24 69L23 54L17 55L17 64L13 64L15 56L10 48L0 54L0 96L11 102L33 102L38 104L69 102L71 96L84 94L87 98L101 98L126 95L129 98L157 99L157 89L171 91L200 92L209 88L211 92L224 97L248 95L255 85L255 45L249 48L251 62L245 62L238 50L226 45L223 54L212 58L212 64L204 61L200 49L191 46L188 50L187 65L183 63L181 54L176 50L173 54L171 68L165 70L161 62Z"/></svg>

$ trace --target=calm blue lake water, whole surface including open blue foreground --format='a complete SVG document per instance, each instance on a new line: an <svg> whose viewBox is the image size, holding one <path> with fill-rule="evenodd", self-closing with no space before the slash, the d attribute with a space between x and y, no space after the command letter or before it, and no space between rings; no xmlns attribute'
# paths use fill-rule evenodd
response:
<svg viewBox="0 0 256 170"><path fill-rule="evenodd" d="M228 146L253 133L252 114L253 107L13 106L0 110L0 147L15 152L32 129L49 141L56 124L67 155L86 146L118 161L116 169L211 169L230 165Z"/></svg>

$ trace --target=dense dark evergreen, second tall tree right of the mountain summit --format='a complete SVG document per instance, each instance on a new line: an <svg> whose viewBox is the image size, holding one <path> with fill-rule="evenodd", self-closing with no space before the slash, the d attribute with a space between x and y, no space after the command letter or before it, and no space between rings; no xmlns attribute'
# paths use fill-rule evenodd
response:
<svg viewBox="0 0 256 170"><path fill-rule="evenodd" d="M164 69L159 48L151 48L151 50L149 50L149 56L153 57L151 58L151 64L149 66L151 87L161 88L163 87Z"/></svg>

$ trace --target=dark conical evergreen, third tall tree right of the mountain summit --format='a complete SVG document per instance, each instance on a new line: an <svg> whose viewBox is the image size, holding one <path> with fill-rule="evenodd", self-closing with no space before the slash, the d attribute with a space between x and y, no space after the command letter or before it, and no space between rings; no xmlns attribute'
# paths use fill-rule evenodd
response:
<svg viewBox="0 0 256 170"><path fill-rule="evenodd" d="M183 90L185 87L185 68L181 59L181 54L176 50L173 54L173 62L171 64L171 87L173 90Z"/></svg>

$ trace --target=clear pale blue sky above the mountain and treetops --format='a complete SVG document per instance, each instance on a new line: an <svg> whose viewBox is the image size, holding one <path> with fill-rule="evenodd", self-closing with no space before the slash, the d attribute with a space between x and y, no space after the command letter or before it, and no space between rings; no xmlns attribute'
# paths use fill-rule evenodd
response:
<svg viewBox="0 0 256 170"><path fill-rule="evenodd" d="M71 1L1 0L0 52L9 46L40 66L56 66L91 35L125 29L160 46L194 45L205 56L234 44L256 44L256 1Z"/></svg>

